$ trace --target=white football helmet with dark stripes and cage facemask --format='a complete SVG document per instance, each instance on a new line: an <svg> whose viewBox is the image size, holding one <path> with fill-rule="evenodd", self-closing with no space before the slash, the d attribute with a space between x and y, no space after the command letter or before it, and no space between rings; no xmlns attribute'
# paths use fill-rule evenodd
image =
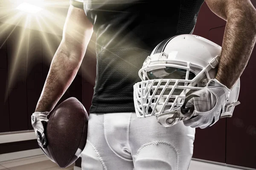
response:
<svg viewBox="0 0 256 170"><path fill-rule="evenodd" d="M217 73L221 46L203 37L182 34L159 43L139 71L142 80L134 85L137 117L156 116L163 126L189 119L186 96L200 90ZM221 118L231 117L239 105L240 79L230 91ZM184 104L185 103L185 104Z"/></svg>

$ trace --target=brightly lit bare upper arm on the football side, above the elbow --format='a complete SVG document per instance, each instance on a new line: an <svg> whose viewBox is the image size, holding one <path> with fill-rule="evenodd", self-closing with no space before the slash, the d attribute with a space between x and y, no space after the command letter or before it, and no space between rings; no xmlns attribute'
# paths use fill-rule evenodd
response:
<svg viewBox="0 0 256 170"><path fill-rule="evenodd" d="M79 3L71 3L64 23L62 43L70 51L83 55L93 34L93 24L87 18ZM80 3L81 4L81 3Z"/></svg>

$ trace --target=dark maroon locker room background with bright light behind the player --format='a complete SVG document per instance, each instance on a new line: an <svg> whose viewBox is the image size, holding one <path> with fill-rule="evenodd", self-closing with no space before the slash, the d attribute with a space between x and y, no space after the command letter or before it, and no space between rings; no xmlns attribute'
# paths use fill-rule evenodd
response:
<svg viewBox="0 0 256 170"><path fill-rule="evenodd" d="M256 0L251 2L256 6ZM68 7L69 0L0 0L0 170L58 169L38 147L31 115L61 42ZM225 25L204 3L193 34L221 45ZM95 38L93 34L81 68L58 104L76 97L89 111L96 77ZM241 104L233 117L196 129L191 170L256 169L254 63L255 49L240 78ZM81 158L67 169L81 170Z"/></svg>

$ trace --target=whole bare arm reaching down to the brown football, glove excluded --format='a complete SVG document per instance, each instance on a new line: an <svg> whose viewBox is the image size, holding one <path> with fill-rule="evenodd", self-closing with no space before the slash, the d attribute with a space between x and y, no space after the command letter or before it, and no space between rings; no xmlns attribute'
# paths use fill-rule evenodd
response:
<svg viewBox="0 0 256 170"><path fill-rule="evenodd" d="M70 5L63 37L52 59L35 111L52 111L58 103L76 77L92 34L93 25L84 10L79 8L79 2Z"/></svg>

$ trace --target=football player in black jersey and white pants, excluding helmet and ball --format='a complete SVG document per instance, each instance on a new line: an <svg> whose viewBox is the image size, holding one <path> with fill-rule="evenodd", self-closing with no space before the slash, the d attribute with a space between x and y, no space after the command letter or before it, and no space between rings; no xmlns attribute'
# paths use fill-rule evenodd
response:
<svg viewBox="0 0 256 170"><path fill-rule="evenodd" d="M157 123L155 116L139 119L133 89L134 84L142 81L138 71L160 42L193 33L204 1L212 12L227 21L216 76L196 91L209 105L202 108L201 100L191 98L184 109L194 108L196 116L170 127ZM195 127L205 128L218 120L253 50L256 9L250 0L71 0L70 3L62 41L32 115L32 125L40 134L39 146L47 155L42 122L47 122L47 115L76 76L94 31L97 76L87 144L81 153L82 170L187 170ZM163 48L159 49L163 52ZM212 96L218 99L218 105L210 102Z"/></svg>

